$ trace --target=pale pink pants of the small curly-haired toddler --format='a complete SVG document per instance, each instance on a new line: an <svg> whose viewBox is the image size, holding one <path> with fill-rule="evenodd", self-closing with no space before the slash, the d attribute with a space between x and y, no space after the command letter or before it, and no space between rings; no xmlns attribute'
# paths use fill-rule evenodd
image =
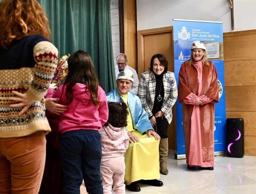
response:
<svg viewBox="0 0 256 194"><path fill-rule="evenodd" d="M116 194L125 194L124 173L124 157L101 162L101 179L104 194L112 194L112 185Z"/></svg>

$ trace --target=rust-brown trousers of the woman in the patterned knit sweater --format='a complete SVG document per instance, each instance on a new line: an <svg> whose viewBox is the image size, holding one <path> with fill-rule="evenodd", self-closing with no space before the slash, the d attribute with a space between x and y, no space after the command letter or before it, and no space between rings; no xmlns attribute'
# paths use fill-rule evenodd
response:
<svg viewBox="0 0 256 194"><path fill-rule="evenodd" d="M45 132L0 138L0 193L37 194L46 155Z"/></svg>

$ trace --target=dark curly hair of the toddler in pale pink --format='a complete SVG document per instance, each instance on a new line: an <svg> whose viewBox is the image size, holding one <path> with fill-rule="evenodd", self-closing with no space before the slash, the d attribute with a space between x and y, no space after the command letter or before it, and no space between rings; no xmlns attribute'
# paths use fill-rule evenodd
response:
<svg viewBox="0 0 256 194"><path fill-rule="evenodd" d="M113 127L126 127L128 110L124 102L109 102L108 103L108 121L105 125Z"/></svg>

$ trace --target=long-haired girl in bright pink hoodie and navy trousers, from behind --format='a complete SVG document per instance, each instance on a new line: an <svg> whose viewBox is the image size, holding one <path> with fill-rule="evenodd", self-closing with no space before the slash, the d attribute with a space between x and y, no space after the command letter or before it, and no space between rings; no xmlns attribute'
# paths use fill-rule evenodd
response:
<svg viewBox="0 0 256 194"><path fill-rule="evenodd" d="M63 191L80 193L84 180L89 194L103 194L99 129L108 120L108 103L90 55L81 50L73 53L65 83L56 92L52 87L46 98L59 98L57 103L67 105L59 121Z"/></svg>

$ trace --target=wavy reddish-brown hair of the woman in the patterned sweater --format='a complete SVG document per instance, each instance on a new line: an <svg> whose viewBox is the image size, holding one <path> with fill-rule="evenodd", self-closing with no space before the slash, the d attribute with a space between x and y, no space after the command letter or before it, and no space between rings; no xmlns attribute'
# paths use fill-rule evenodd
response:
<svg viewBox="0 0 256 194"><path fill-rule="evenodd" d="M0 45L8 48L14 40L42 34L50 40L49 20L36 0L3 0L0 2Z"/></svg>

